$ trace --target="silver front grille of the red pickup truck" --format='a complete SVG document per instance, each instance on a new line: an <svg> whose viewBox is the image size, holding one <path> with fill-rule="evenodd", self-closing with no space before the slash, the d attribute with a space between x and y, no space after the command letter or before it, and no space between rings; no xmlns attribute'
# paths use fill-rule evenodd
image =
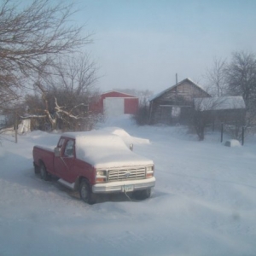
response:
<svg viewBox="0 0 256 256"><path fill-rule="evenodd" d="M132 179L143 179L146 176L145 167L122 168L118 170L108 170L108 181L122 181Z"/></svg>

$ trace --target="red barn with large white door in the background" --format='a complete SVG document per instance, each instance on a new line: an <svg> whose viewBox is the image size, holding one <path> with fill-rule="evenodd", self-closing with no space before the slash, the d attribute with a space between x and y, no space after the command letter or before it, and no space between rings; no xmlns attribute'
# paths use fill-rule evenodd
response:
<svg viewBox="0 0 256 256"><path fill-rule="evenodd" d="M90 106L90 110L95 113L105 113L107 116L135 114L138 110L138 102L137 96L111 90L103 93L99 101Z"/></svg>

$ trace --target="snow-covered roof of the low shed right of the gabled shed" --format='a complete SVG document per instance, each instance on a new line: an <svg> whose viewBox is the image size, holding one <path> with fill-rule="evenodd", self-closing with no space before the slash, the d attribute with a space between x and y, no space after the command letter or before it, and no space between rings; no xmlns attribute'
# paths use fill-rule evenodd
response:
<svg viewBox="0 0 256 256"><path fill-rule="evenodd" d="M224 110L246 108L242 96L222 96L210 98L195 98L195 110Z"/></svg>

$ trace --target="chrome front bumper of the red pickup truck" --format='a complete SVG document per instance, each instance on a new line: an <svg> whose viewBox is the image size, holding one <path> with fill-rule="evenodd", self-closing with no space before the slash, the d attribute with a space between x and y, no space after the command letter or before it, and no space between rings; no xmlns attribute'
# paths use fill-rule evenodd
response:
<svg viewBox="0 0 256 256"><path fill-rule="evenodd" d="M93 193L125 192L125 188L132 188L132 191L154 187L155 177L140 180L119 181L113 183L97 183L92 186Z"/></svg>

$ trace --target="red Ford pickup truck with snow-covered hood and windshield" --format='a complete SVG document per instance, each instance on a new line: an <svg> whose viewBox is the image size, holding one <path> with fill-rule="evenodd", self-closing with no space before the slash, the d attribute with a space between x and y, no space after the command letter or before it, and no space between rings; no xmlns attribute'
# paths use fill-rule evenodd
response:
<svg viewBox="0 0 256 256"><path fill-rule="evenodd" d="M34 146L32 154L36 173L44 180L59 177L89 204L97 195L116 192L143 200L155 184L154 162L107 131L66 132L55 148Z"/></svg>

